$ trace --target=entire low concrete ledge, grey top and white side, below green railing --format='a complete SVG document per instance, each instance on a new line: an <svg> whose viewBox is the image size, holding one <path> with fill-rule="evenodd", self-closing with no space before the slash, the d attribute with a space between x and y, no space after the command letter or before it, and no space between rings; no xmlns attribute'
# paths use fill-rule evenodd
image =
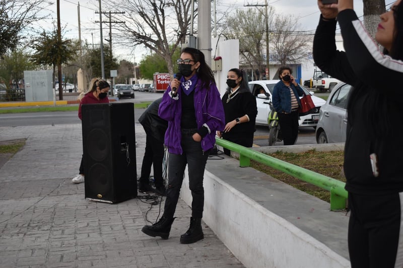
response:
<svg viewBox="0 0 403 268"><path fill-rule="evenodd" d="M329 203L226 156L209 159L204 187L204 222L246 267L350 267L348 216Z"/></svg>

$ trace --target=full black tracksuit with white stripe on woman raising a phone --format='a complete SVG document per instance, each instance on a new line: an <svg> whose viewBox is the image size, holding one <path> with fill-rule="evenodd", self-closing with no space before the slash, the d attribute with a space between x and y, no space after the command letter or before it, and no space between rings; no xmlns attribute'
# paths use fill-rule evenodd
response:
<svg viewBox="0 0 403 268"><path fill-rule="evenodd" d="M344 162L351 264L403 267L403 62L378 50L353 10L338 21L346 52L336 50L336 22L321 17L313 56L321 70L354 86Z"/></svg>

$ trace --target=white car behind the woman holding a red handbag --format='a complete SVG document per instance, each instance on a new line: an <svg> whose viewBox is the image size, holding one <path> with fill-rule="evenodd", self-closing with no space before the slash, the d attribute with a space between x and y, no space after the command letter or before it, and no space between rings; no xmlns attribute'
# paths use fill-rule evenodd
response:
<svg viewBox="0 0 403 268"><path fill-rule="evenodd" d="M268 113L270 113L269 102L272 101L273 88L278 82L279 80L256 80L249 82L249 90L256 97L256 125L268 126L267 118ZM312 96L312 101L315 104L315 112L313 114L301 116L298 121L299 127L316 127L316 124L319 120L320 107L325 104L325 101L321 98L313 96L313 93L307 91L305 87L301 87L306 95ZM265 97L261 97L262 95L259 95L261 90L264 90Z"/></svg>

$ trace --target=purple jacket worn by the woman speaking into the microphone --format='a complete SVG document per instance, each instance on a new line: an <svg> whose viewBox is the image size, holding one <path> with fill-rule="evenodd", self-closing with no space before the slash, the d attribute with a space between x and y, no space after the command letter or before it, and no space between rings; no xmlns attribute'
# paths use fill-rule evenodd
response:
<svg viewBox="0 0 403 268"><path fill-rule="evenodd" d="M206 126L209 133L201 139L201 148L207 151L216 143L216 131L225 127L224 108L220 93L214 83L209 88L201 88L201 81L194 88L194 111L196 113L197 129ZM178 88L178 100L170 97L171 87L168 86L158 109L158 115L168 121L168 129L165 132L165 146L168 151L182 154L180 120L182 116L181 87Z"/></svg>

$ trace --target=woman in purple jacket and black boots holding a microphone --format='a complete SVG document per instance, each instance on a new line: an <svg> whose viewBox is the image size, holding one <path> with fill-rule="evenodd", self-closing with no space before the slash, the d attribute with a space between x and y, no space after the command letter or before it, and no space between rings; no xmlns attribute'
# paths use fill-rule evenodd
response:
<svg viewBox="0 0 403 268"><path fill-rule="evenodd" d="M215 133L224 129L225 119L220 93L204 54L187 47L182 49L177 63L182 77L168 86L158 111L159 116L168 121L165 133L169 152L168 187L164 214L157 223L144 226L142 231L168 239L187 164L192 215L190 227L181 235L180 243L189 244L204 238L201 229L204 171L216 141Z"/></svg>

